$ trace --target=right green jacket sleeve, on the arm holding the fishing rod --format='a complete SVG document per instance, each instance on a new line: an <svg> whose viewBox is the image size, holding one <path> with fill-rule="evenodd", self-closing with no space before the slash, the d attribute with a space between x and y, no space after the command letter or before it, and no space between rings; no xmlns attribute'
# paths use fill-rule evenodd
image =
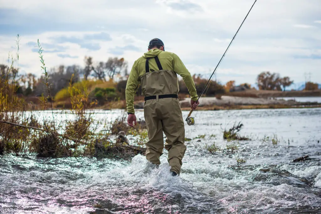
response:
<svg viewBox="0 0 321 214"><path fill-rule="evenodd" d="M187 70L185 65L183 64L182 60L173 53L174 58L174 72L180 75L183 78L184 83L186 84L187 90L189 94L191 95L191 99L196 101L198 96L195 88L195 83L192 78L191 73Z"/></svg>

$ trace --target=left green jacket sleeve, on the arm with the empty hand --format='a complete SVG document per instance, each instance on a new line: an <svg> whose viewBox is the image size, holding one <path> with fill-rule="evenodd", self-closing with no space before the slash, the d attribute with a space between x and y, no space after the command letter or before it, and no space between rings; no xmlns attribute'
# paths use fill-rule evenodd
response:
<svg viewBox="0 0 321 214"><path fill-rule="evenodd" d="M129 73L129 77L126 84L126 106L127 113L135 114L134 111L134 95L135 90L139 84L138 71L136 68L136 63L133 64L132 70Z"/></svg>

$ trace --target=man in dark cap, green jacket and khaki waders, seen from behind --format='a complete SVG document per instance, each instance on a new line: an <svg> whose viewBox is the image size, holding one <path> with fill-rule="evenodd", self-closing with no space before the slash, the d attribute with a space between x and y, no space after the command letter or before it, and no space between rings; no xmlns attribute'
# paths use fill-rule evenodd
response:
<svg viewBox="0 0 321 214"><path fill-rule="evenodd" d="M184 120L178 99L178 78L180 75L191 95L191 108L196 109L197 93L191 74L180 58L164 50L160 39L149 42L148 52L138 58L132 67L126 85L126 104L130 126L136 125L134 93L142 86L145 97L144 117L149 141L146 143L146 158L152 164L160 165L163 154L163 132L166 135L165 149L168 150L170 173L180 174L186 146Z"/></svg>

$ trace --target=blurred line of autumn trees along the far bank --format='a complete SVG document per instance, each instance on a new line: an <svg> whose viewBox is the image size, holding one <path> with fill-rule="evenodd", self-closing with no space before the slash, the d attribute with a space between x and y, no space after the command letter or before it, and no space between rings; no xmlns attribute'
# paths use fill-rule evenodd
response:
<svg viewBox="0 0 321 214"><path fill-rule="evenodd" d="M2 79L7 79L14 82L16 78L18 82L17 94L23 96L37 96L44 93L46 95L45 77L36 77L35 74L19 74L9 73L9 66L0 64L0 75ZM115 90L120 93L118 97L125 98L125 88L128 78L128 63L124 58L109 57L106 61L94 62L92 57L84 58L84 66L79 65L59 65L58 67L50 68L48 71L48 82L50 84L50 94L54 97L56 93L69 86L70 83L86 81L89 79L99 81L115 82ZM198 92L202 91L208 79L202 78L201 74L193 75L195 87ZM271 73L270 71L261 72L256 78L256 84L259 90L286 90L287 87L293 84L290 77L281 77L279 73ZM188 94L187 87L183 80L179 81L180 93ZM229 81L225 85L220 82L211 81L208 87L207 95L221 94L227 91L253 89L250 84L244 83L235 86L235 81ZM318 89L317 83L308 82L305 90ZM141 94L141 89L137 91L137 95Z"/></svg>

